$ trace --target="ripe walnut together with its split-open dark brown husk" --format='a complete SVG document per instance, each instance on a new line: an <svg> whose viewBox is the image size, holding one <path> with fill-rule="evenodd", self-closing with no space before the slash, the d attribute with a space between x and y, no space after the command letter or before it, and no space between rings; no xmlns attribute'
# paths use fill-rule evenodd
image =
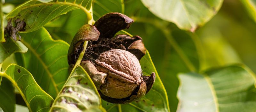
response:
<svg viewBox="0 0 256 112"><path fill-rule="evenodd" d="M113 12L102 16L92 25L84 25L76 33L68 51L68 64L75 64L89 41L81 66L92 78L103 100L129 103L143 97L155 82L155 73L143 76L139 60L145 55L140 36L116 35L129 28L133 20Z"/></svg>

